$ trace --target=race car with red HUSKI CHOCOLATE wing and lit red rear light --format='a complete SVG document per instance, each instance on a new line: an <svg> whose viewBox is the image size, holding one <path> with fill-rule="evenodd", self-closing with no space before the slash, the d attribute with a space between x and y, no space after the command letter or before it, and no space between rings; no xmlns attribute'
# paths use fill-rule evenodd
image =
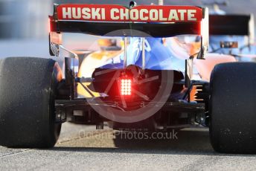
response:
<svg viewBox="0 0 256 171"><path fill-rule="evenodd" d="M49 23L50 54L65 57L63 68L53 59L0 61L1 146L53 147L71 121L148 132L209 127L217 152L256 152L256 64L195 67L225 58L207 54L208 8L54 4ZM93 36L94 51L66 48L64 33Z"/></svg>

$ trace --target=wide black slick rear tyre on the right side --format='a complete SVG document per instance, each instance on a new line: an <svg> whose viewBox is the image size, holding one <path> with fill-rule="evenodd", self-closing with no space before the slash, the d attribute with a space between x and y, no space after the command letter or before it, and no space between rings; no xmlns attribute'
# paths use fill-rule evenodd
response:
<svg viewBox="0 0 256 171"><path fill-rule="evenodd" d="M217 65L211 74L210 137L217 152L256 153L256 63Z"/></svg>

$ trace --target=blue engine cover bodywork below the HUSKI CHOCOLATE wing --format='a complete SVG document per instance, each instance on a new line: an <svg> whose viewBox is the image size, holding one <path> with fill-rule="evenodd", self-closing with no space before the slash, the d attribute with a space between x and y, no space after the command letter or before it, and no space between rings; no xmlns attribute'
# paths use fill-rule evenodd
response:
<svg viewBox="0 0 256 171"><path fill-rule="evenodd" d="M142 67L142 38L130 38L129 42L127 65ZM145 38L145 57L147 69L185 71L185 59L177 58L161 38ZM124 68L124 54L115 58L101 68Z"/></svg>

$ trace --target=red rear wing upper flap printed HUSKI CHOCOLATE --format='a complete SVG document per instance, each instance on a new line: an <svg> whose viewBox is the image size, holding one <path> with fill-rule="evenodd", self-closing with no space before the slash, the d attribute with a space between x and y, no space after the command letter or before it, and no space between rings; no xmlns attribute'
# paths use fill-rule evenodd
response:
<svg viewBox="0 0 256 171"><path fill-rule="evenodd" d="M54 4L54 19L87 22L201 22L202 7L117 4Z"/></svg>

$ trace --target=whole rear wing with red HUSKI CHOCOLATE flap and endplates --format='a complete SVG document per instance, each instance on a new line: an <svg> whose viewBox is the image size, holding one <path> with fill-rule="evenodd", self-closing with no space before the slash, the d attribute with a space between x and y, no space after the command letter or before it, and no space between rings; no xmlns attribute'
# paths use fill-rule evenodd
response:
<svg viewBox="0 0 256 171"><path fill-rule="evenodd" d="M153 37L171 37L204 32L208 42L207 20L208 9L194 6L54 4L49 38L51 45L61 45L61 33L141 37L141 31Z"/></svg>

